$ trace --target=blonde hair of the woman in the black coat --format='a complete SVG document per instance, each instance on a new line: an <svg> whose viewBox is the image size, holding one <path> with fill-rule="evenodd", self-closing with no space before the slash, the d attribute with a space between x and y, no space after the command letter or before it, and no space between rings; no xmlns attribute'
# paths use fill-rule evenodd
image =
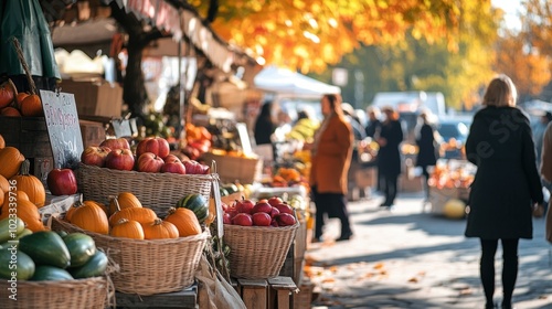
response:
<svg viewBox="0 0 552 309"><path fill-rule="evenodd" d="M482 105L487 106L516 106L518 90L510 77L500 74L487 86Z"/></svg>

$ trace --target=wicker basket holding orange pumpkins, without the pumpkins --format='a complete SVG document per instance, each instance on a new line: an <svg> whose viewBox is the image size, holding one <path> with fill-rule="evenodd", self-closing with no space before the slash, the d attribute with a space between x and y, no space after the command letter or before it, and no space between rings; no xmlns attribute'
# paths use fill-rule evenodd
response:
<svg viewBox="0 0 552 309"><path fill-rule="evenodd" d="M96 246L119 266L119 271L110 276L115 289L145 296L191 286L209 238L208 232L172 239L112 237L84 231L56 216L52 216L52 230L91 235Z"/></svg>

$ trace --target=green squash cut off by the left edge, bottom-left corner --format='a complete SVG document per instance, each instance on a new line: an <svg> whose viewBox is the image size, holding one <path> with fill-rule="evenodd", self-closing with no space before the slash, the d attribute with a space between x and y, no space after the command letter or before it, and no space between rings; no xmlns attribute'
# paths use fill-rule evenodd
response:
<svg viewBox="0 0 552 309"><path fill-rule="evenodd" d="M12 257L17 259L12 259ZM11 260L15 260L15 263L10 264ZM28 280L33 276L34 268L34 262L23 252L10 247L8 244L0 249L0 278L12 279L15 277L18 280Z"/></svg>

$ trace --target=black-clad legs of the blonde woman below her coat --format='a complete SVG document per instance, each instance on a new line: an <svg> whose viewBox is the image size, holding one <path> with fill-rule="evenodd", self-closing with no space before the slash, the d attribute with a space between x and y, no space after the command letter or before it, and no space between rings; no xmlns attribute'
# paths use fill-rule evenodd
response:
<svg viewBox="0 0 552 309"><path fill-rule="evenodd" d="M505 305L510 305L518 278L519 239L500 239L502 243L502 291ZM479 273L487 303L492 303L495 294L495 254L498 239L481 239L481 260Z"/></svg>

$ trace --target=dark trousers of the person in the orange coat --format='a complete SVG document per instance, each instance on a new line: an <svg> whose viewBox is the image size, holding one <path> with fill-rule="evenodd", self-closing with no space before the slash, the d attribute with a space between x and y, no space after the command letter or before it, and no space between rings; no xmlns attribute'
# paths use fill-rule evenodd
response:
<svg viewBox="0 0 552 309"><path fill-rule="evenodd" d="M341 236L351 235L347 196L342 193L319 193L316 187L311 188L311 192L316 205L315 238L322 236L326 217L338 217L341 221Z"/></svg>

